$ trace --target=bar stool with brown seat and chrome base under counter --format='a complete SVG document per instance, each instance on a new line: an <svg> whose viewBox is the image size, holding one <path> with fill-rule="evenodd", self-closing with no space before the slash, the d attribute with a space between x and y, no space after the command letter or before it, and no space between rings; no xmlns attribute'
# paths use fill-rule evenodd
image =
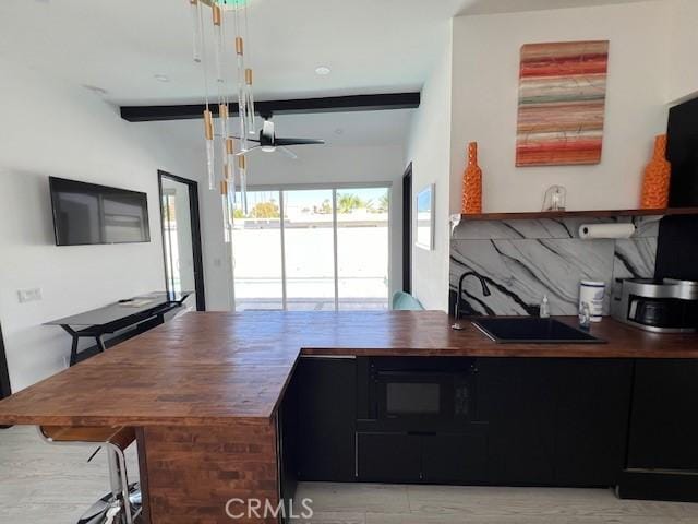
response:
<svg viewBox="0 0 698 524"><path fill-rule="evenodd" d="M124 455L124 450L135 441L133 428L39 426L37 429L49 444L99 444L107 452L111 492L95 502L77 524L133 524L142 512L141 486L129 485Z"/></svg>

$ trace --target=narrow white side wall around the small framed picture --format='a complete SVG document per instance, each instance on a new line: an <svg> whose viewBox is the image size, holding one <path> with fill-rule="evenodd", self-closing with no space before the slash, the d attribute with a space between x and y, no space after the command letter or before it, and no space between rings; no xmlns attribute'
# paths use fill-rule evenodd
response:
<svg viewBox="0 0 698 524"><path fill-rule="evenodd" d="M449 155L452 97L452 25L443 31L443 52L422 88L422 102L412 119L407 162L412 162L413 196L435 184L435 246L412 247L412 294L428 309L448 309ZM414 207L412 199L412 209ZM412 213L414 216L414 213Z"/></svg>

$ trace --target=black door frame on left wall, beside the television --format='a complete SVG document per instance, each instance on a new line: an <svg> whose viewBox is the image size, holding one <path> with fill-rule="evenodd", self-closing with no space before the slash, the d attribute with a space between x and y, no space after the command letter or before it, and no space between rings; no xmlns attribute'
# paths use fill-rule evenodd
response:
<svg viewBox="0 0 698 524"><path fill-rule="evenodd" d="M194 250L194 290L196 291L196 311L206 311L206 295L204 286L204 258L201 243L201 215L198 212L198 182L188 178L178 177L171 172L158 169L157 187L158 187L158 210L160 214L160 234L163 236L163 264L165 270L165 286L170 290L167 281L167 247L165 242L165 227L163 223L163 179L167 178L174 182L186 184L189 188L189 212L192 227L192 248Z"/></svg>

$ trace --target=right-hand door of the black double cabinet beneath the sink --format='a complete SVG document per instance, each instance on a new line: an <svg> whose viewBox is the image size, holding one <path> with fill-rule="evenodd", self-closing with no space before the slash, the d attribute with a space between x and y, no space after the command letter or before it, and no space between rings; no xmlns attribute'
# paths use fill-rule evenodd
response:
<svg viewBox="0 0 698 524"><path fill-rule="evenodd" d="M625 463L633 362L559 359L555 368L555 484L615 486Z"/></svg>

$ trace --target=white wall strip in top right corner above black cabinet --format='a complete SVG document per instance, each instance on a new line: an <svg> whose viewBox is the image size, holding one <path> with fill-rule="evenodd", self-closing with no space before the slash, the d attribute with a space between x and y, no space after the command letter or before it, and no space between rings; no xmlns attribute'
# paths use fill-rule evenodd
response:
<svg viewBox="0 0 698 524"><path fill-rule="evenodd" d="M669 0L671 66L666 102L682 102L698 96L698 1Z"/></svg>

